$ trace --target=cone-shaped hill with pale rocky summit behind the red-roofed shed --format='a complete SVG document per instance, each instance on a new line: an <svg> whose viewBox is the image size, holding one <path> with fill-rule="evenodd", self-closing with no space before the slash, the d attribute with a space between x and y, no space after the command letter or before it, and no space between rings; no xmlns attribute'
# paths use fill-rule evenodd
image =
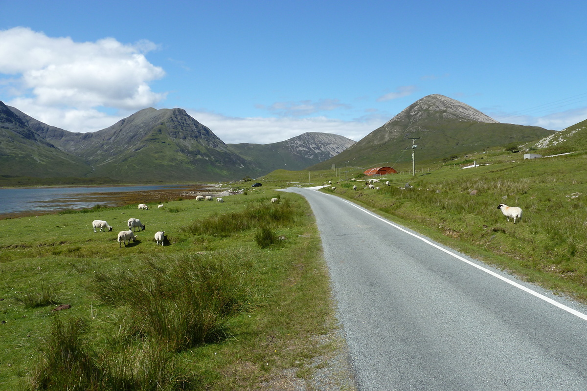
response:
<svg viewBox="0 0 587 391"><path fill-rule="evenodd" d="M554 132L501 124L465 103L432 94L406 107L352 147L310 169L345 162L353 166L393 166L410 161L412 138L417 139L418 159L431 160L510 142L524 144Z"/></svg>

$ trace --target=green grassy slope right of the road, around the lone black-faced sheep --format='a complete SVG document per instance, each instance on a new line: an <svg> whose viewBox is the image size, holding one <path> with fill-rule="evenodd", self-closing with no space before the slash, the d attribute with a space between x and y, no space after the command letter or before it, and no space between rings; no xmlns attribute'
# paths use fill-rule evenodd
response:
<svg viewBox="0 0 587 391"><path fill-rule="evenodd" d="M341 182L334 192L528 281L587 302L586 158L502 158L474 169L390 176L391 185L377 183L379 190L363 189L364 182ZM359 185L357 191L353 185ZM508 223L497 209L500 203L521 207L521 222Z"/></svg>

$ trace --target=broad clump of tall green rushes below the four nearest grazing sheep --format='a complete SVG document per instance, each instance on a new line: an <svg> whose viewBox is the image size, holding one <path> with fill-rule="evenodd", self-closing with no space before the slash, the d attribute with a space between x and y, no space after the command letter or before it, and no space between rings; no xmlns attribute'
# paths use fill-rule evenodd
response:
<svg viewBox="0 0 587 391"><path fill-rule="evenodd" d="M253 289L243 253L151 257L137 273L97 274L100 300L129 308L137 335L184 349L218 340Z"/></svg>

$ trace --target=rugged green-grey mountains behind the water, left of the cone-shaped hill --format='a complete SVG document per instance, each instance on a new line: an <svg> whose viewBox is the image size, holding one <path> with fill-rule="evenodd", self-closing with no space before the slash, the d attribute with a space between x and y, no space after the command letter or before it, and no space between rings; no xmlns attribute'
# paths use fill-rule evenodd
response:
<svg viewBox="0 0 587 391"><path fill-rule="evenodd" d="M341 136L314 133L292 138L283 145L254 147L264 153L241 156L238 147L230 148L181 108L145 108L90 133L44 124L4 103L0 113L4 113L0 117L0 145L6 151L0 153L0 159L4 159L0 160L0 175L75 175L129 182L241 179L267 174L284 168L284 164L289 164L288 169L305 168L354 143ZM2 138L3 134L6 137ZM27 146L11 149L9 145L15 142L25 142ZM27 152L19 153L18 149ZM32 158L39 151L52 157ZM64 159L69 159L67 169L63 164L45 163Z"/></svg>

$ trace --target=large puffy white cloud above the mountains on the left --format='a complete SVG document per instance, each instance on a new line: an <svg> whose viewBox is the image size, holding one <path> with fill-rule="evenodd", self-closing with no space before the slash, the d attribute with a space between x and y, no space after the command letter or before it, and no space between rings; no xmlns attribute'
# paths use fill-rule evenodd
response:
<svg viewBox="0 0 587 391"><path fill-rule="evenodd" d="M126 114L163 100L165 94L152 91L149 83L165 72L144 56L156 48L148 40L74 42L23 27L0 30L0 88L14 97L6 104L39 120L55 117L51 125L68 129L74 121L66 118L75 116L101 123L108 117L101 107ZM120 119L109 121L114 118Z"/></svg>

